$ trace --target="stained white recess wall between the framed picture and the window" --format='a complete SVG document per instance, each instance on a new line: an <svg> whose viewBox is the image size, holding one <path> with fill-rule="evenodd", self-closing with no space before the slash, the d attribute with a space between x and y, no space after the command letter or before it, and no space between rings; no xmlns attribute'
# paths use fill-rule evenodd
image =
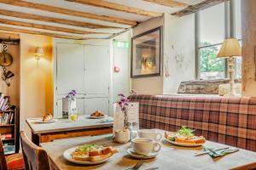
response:
<svg viewBox="0 0 256 170"><path fill-rule="evenodd" d="M195 14L166 14L164 44L163 94L176 94L180 82L195 79Z"/></svg>

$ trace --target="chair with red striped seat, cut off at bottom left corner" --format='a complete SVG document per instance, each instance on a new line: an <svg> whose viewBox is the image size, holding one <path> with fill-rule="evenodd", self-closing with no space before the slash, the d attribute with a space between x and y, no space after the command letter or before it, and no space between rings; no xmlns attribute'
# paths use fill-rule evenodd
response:
<svg viewBox="0 0 256 170"><path fill-rule="evenodd" d="M0 134L1 136L1 134ZM0 137L0 169L1 170L20 170L25 169L23 155L21 153L4 155L3 142Z"/></svg>

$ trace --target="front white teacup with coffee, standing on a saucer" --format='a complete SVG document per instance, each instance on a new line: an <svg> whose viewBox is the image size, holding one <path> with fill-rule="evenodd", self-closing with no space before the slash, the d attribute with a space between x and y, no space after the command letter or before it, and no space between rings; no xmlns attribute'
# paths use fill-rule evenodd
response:
<svg viewBox="0 0 256 170"><path fill-rule="evenodd" d="M148 156L150 153L159 152L161 145L155 142L154 139L137 138L131 140L133 150L143 156Z"/></svg>

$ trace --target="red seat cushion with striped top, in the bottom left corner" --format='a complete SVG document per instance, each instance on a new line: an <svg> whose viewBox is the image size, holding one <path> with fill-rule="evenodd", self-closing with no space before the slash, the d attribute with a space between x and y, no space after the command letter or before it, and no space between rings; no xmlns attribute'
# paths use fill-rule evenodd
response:
<svg viewBox="0 0 256 170"><path fill-rule="evenodd" d="M23 155L21 153L6 156L8 169L25 169Z"/></svg>

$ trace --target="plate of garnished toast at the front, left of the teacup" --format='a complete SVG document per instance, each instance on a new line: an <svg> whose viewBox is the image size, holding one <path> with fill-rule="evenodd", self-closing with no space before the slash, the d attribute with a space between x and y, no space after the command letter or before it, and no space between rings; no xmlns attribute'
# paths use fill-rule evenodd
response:
<svg viewBox="0 0 256 170"><path fill-rule="evenodd" d="M63 156L67 161L83 165L96 165L108 161L118 150L99 144L84 144L65 150Z"/></svg>

